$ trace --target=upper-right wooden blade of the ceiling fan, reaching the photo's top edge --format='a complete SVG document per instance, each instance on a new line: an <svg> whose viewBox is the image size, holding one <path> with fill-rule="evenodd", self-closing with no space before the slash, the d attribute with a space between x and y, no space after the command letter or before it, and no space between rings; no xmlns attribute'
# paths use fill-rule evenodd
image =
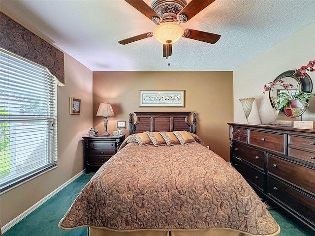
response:
<svg viewBox="0 0 315 236"><path fill-rule="evenodd" d="M206 8L207 6L209 6L212 2L214 2L215 0L191 0L185 7L183 10L181 10L178 13L178 16L180 16L181 14L184 14L185 16L187 16L187 19L182 19L181 17L179 17L179 19L183 22L187 22L189 21L192 17L194 17L196 14L198 14L200 11L202 11L204 8Z"/></svg>

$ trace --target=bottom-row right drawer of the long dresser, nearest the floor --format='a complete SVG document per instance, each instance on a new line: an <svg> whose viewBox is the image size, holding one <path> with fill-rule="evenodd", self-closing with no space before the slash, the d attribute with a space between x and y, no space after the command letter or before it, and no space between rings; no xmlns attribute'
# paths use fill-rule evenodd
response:
<svg viewBox="0 0 315 236"><path fill-rule="evenodd" d="M267 192L285 206L315 223L315 198L295 190L277 179L267 176Z"/></svg>

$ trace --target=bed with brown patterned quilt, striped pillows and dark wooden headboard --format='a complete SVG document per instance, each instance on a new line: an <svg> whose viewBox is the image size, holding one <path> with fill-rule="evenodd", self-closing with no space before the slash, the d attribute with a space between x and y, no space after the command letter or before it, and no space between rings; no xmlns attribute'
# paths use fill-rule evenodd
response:
<svg viewBox="0 0 315 236"><path fill-rule="evenodd" d="M83 188L60 228L89 227L90 236L280 233L246 180L196 135L195 114L135 115L129 136Z"/></svg>

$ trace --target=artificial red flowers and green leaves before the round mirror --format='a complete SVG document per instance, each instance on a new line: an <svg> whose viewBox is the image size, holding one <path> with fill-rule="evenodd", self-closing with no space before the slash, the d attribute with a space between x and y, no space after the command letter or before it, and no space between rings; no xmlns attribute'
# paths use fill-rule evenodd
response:
<svg viewBox="0 0 315 236"><path fill-rule="evenodd" d="M293 76L298 75L299 79L302 79L306 76L306 72L312 72L315 71L315 60L310 60L310 62L307 65L301 66L300 69L296 69L293 73ZM295 88L295 92L289 92L288 89L292 89L292 84L285 84L285 82L281 79L275 81L275 82L269 82L268 85L264 85L264 91L269 91L271 88L273 88L275 85L281 85L287 92L281 92L274 100L274 105L277 110L283 109L291 100L299 100L305 106L308 106L307 103L308 99L315 96L315 92L311 91L302 91L298 94L296 94L297 88Z"/></svg>

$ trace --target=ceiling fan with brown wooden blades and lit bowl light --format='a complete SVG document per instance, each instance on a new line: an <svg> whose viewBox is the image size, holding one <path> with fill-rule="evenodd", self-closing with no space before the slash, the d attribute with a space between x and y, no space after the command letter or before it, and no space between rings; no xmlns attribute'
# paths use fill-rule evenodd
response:
<svg viewBox="0 0 315 236"><path fill-rule="evenodd" d="M143 0L125 0L131 6L140 11L158 26L153 32L136 35L118 41L120 44L128 44L141 39L154 37L163 44L163 57L172 55L172 44L181 37L190 38L206 43L215 44L221 35L199 31L195 29L184 29L181 23L189 21L215 0L154 0L151 7ZM169 63L168 63L169 65Z"/></svg>

